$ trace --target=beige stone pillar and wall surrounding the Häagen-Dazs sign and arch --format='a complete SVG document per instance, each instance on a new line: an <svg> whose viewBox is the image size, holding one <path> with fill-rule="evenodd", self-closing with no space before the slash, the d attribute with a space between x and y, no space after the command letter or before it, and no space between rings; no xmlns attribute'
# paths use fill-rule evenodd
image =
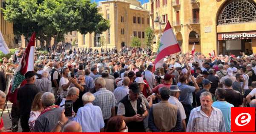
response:
<svg viewBox="0 0 256 134"><path fill-rule="evenodd" d="M199 0L200 2L200 23L201 23L201 49L203 54L208 55L210 51L217 52L218 39L217 33L234 32L234 31L252 31L256 29L254 23L240 23L217 26L217 19L221 6L227 0ZM254 0L256 2L256 0ZM210 4L209 4L210 3ZM205 32L206 29L211 29L210 32ZM252 41L253 53L256 52L256 41ZM218 53L218 52L217 52Z"/></svg>

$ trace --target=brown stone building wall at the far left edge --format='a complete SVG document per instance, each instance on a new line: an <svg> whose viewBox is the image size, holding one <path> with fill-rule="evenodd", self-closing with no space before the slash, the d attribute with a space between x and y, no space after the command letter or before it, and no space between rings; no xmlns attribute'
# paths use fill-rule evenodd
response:
<svg viewBox="0 0 256 134"><path fill-rule="evenodd" d="M0 0L1 8L3 6L4 1L5 0ZM15 41L14 41L13 24L4 20L2 11L0 11L0 31L3 34L3 38L4 38L7 46L9 48L16 48L17 45L15 44Z"/></svg>

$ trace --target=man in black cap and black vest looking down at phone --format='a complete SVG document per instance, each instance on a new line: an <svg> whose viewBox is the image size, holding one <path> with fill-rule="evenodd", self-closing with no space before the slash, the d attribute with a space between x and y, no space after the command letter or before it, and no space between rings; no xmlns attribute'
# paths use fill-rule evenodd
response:
<svg viewBox="0 0 256 134"><path fill-rule="evenodd" d="M144 132L143 120L148 112L145 103L139 97L138 83L132 83L129 89L129 94L118 104L118 115L124 117L128 132Z"/></svg>

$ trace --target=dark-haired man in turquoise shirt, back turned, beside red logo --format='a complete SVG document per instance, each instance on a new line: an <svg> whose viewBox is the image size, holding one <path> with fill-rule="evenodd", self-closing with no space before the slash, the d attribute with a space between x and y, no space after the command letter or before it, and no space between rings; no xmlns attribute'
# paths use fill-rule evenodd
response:
<svg viewBox="0 0 256 134"><path fill-rule="evenodd" d="M226 90L223 88L217 88L215 91L217 101L213 103L213 107L219 108L224 117L224 123L227 132L230 132L231 126L231 107L234 105L225 101Z"/></svg>

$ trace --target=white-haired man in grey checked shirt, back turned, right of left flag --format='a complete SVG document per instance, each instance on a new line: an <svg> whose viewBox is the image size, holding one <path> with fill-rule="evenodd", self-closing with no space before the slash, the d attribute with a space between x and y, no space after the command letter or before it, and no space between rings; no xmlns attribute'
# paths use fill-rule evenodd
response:
<svg viewBox="0 0 256 134"><path fill-rule="evenodd" d="M44 92L52 92L52 82L48 79L49 73L47 71L43 71L42 78L36 79L35 86L37 86L41 91Z"/></svg>

